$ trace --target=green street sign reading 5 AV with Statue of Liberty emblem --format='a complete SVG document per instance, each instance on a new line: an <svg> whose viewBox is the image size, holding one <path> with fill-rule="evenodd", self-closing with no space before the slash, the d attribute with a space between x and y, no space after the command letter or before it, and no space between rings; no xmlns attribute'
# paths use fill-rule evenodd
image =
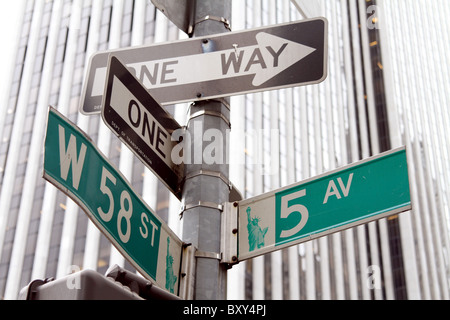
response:
<svg viewBox="0 0 450 320"><path fill-rule="evenodd" d="M411 209L406 149L239 202L238 261Z"/></svg>

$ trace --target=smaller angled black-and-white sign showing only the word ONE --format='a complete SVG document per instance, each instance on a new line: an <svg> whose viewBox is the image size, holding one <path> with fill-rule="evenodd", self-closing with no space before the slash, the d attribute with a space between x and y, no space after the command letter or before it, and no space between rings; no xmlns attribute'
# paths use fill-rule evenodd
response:
<svg viewBox="0 0 450 320"><path fill-rule="evenodd" d="M110 56L102 102L105 124L159 179L181 198L184 169L173 162L172 133L181 129L113 55Z"/></svg>

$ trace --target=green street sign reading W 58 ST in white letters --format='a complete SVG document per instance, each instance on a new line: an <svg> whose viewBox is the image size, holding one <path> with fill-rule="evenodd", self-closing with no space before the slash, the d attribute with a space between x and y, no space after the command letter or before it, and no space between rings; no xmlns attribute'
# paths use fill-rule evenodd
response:
<svg viewBox="0 0 450 320"><path fill-rule="evenodd" d="M44 178L72 198L143 276L178 294L182 241L91 139L51 107Z"/></svg>

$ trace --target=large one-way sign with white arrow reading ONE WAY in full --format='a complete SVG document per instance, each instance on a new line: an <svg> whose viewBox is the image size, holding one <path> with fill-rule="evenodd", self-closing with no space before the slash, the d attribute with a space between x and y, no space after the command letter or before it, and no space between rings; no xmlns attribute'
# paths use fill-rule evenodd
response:
<svg viewBox="0 0 450 320"><path fill-rule="evenodd" d="M162 105L319 83L327 76L327 28L316 18L97 53L81 112L100 112L110 53Z"/></svg>

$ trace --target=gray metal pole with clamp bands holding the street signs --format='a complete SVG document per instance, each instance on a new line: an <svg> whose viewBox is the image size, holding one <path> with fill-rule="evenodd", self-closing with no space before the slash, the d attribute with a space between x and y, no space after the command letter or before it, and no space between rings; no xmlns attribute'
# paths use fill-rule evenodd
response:
<svg viewBox="0 0 450 320"><path fill-rule="evenodd" d="M229 31L231 0L197 0L195 10L194 37ZM201 45L203 52L214 47L209 40ZM220 230L222 205L230 193L229 99L196 102L189 117L186 136L190 141L186 144L191 146L191 161L185 164L182 218L183 240L198 249L193 299L221 300L226 299L227 285L226 266L220 263Z"/></svg>

